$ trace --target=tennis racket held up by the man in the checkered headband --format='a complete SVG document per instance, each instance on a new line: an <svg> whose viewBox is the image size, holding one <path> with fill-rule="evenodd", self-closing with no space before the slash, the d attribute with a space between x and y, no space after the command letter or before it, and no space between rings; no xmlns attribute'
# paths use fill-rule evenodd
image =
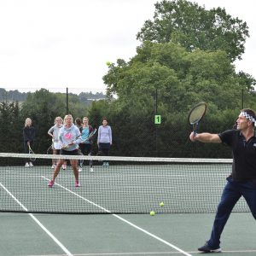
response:
<svg viewBox="0 0 256 256"><path fill-rule="evenodd" d="M198 127L199 122L204 117L205 113L207 112L207 103L200 102L196 104L190 111L189 111L189 124L193 126L194 137L196 136L196 130Z"/></svg>

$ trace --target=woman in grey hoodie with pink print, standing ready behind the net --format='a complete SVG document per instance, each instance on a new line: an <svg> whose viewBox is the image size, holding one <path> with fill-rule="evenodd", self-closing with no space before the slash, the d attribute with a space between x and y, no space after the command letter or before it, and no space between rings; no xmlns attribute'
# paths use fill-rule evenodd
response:
<svg viewBox="0 0 256 256"><path fill-rule="evenodd" d="M64 125L59 132L59 139L61 142L61 154L62 155L79 155L79 143L81 142L81 133L79 128L73 124L73 116L67 114L64 118ZM51 188L55 183L55 178L58 176L61 166L64 163L64 159L58 161L55 167L55 172L48 186ZM75 187L79 187L79 170L78 160L70 160L70 164L73 168L73 174L75 177Z"/></svg>

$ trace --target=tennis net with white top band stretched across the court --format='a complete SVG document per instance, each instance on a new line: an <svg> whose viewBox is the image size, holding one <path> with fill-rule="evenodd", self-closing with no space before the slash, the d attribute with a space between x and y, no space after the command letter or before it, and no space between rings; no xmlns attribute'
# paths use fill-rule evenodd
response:
<svg viewBox="0 0 256 256"><path fill-rule="evenodd" d="M215 212L232 160L61 156L84 160L75 187L70 164L55 178L52 158L0 153L0 212L148 213ZM89 161L93 160L93 171ZM102 166L108 162L109 166ZM164 202L164 206L160 206ZM249 212L243 198L233 212Z"/></svg>

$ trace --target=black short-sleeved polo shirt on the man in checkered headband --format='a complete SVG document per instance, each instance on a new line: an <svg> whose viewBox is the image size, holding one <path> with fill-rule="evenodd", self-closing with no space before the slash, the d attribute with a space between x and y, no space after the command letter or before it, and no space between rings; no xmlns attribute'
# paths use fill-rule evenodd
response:
<svg viewBox="0 0 256 256"><path fill-rule="evenodd" d="M246 141L241 131L228 130L219 133L222 143L227 144L233 151L232 177L243 182L256 180L256 137Z"/></svg>

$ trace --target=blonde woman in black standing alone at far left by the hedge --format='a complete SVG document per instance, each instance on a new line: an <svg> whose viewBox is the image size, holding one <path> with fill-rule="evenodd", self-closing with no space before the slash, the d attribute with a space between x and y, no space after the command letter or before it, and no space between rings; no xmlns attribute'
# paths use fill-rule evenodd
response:
<svg viewBox="0 0 256 256"><path fill-rule="evenodd" d="M23 142L25 154L28 154L30 146L32 148L35 139L35 128L32 126L32 119L26 118L25 125L23 127ZM26 159L25 167L32 167L33 164L31 160Z"/></svg>

